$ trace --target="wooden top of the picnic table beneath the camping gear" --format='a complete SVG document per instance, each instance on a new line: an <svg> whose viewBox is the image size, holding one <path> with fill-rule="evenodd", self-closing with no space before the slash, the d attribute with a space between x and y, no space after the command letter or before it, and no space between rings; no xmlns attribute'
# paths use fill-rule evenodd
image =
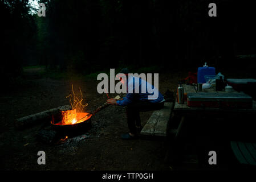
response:
<svg viewBox="0 0 256 182"><path fill-rule="evenodd" d="M193 85L183 85L184 93L196 93L196 86ZM202 92L210 92L210 93L225 93L225 91L216 91L214 87L209 89L203 89ZM238 93L234 91L233 93ZM187 102L184 104L178 104L177 98L174 105L174 111L233 111L233 112L255 112L256 113L256 101L253 101L253 107L251 109L224 109L224 108L214 108L214 107L189 107Z"/></svg>

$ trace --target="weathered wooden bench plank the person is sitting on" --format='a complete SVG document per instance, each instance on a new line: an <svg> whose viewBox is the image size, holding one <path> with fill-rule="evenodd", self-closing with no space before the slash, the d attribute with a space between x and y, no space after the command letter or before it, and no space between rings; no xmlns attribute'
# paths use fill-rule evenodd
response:
<svg viewBox="0 0 256 182"><path fill-rule="evenodd" d="M164 108L153 111L140 135L142 137L166 137L167 125L173 106L173 102L165 102Z"/></svg>

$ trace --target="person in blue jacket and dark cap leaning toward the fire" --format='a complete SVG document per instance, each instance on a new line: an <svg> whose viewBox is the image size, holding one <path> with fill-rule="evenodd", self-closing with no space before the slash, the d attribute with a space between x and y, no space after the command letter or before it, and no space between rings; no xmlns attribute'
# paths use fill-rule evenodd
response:
<svg viewBox="0 0 256 182"><path fill-rule="evenodd" d="M164 96L147 81L131 76L127 68L121 69L120 73L126 77L126 81L122 81L121 77L120 81L122 84L127 84L127 94L121 100L110 98L107 102L108 104L126 106L129 133L121 135L121 138L124 140L137 139L142 129L140 112L162 109L165 102ZM148 88L152 88L150 90L153 92L149 93Z"/></svg>

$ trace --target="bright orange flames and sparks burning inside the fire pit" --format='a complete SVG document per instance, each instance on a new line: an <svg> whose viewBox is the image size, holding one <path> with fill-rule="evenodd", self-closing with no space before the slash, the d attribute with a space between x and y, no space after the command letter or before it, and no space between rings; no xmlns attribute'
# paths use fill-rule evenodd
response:
<svg viewBox="0 0 256 182"><path fill-rule="evenodd" d="M84 107L86 107L88 104L84 104L84 105L82 104L83 94L80 88L79 90L80 90L80 96L75 94L74 88L72 85L72 93L66 97L66 98L70 98L69 102L72 107L72 110L61 111L62 121L56 123L55 125L74 125L80 122L84 122L87 119L91 118L91 114L84 112ZM54 118L52 118L52 121L53 120Z"/></svg>

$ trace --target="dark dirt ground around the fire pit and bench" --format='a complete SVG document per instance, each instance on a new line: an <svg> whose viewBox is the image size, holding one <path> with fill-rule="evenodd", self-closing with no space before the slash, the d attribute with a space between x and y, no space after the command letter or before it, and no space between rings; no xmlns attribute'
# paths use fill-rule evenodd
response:
<svg viewBox="0 0 256 182"><path fill-rule="evenodd" d="M32 72L32 71L31 71ZM31 73L30 72L30 73ZM36 74L36 69L34 74ZM177 81L187 76L187 72L160 73L159 90L176 89ZM168 79L167 79L168 78ZM178 170L200 169L197 163L175 166L165 162L168 141L121 140L120 135L128 132L125 108L109 106L92 118L92 129L62 144L46 144L36 139L42 125L23 130L15 128L15 120L62 105L68 105L66 96L81 88L92 111L104 104L106 94L97 93L94 79L53 80L50 78L28 77L22 86L0 97L0 170ZM109 94L115 97L115 94ZM152 111L141 113L144 125ZM38 151L46 152L46 165L38 165Z"/></svg>

